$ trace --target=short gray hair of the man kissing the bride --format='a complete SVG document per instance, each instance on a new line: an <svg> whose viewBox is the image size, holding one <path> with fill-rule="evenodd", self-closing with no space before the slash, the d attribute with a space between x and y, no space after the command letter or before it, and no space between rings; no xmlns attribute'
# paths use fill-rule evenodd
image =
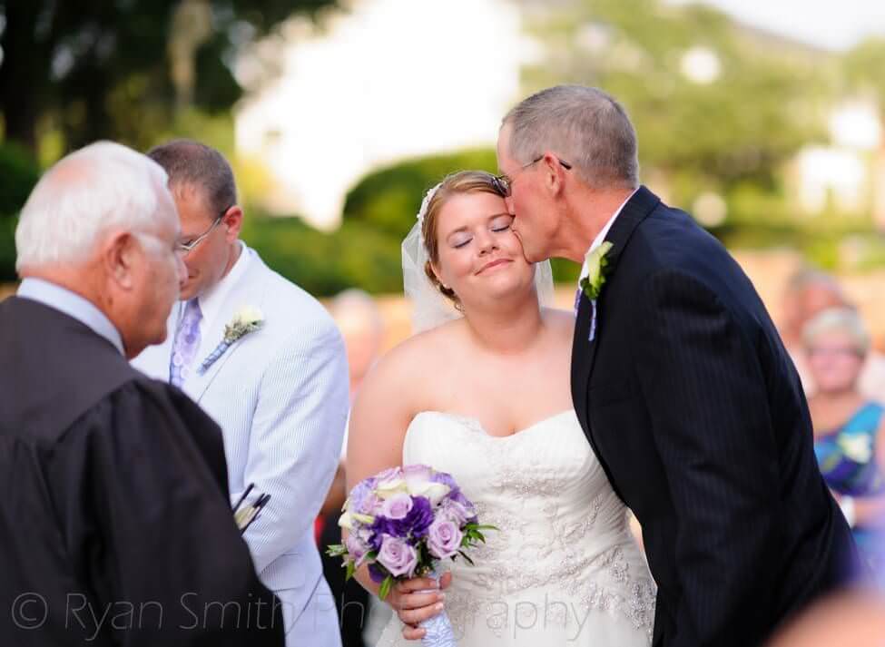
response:
<svg viewBox="0 0 885 647"><path fill-rule="evenodd" d="M504 118L510 155L527 164L556 152L595 189L639 186L636 132L624 107L598 88L556 85L532 94Z"/></svg>

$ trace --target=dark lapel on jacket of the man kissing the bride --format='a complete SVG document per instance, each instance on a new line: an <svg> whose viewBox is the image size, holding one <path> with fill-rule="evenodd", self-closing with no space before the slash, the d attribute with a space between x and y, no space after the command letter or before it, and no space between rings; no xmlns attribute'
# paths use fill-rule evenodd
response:
<svg viewBox="0 0 885 647"><path fill-rule="evenodd" d="M621 258L621 254L630 241L636 226L644 221L649 213L654 211L659 202L660 199L652 191L641 186L630 200L624 204L624 208L615 218L612 228L605 236L605 240L612 243L612 249L606 255L608 260L608 266L605 269L606 279L611 279L612 274L615 272L617 261ZM590 426L588 391L590 377L593 375L595 365L596 349L599 347L605 334L604 312L608 291L607 286L604 284L599 298L596 299L596 328L593 341L589 340L590 324L593 318L593 304L582 292L577 321L575 322L575 339L572 343L572 400L575 404L575 413L578 420L584 426L590 445L594 449L596 449L596 446L593 430Z"/></svg>

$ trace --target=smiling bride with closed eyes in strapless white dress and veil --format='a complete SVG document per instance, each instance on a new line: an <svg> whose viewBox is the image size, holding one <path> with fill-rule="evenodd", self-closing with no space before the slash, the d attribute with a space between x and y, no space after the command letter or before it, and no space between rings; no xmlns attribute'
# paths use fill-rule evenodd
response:
<svg viewBox="0 0 885 647"><path fill-rule="evenodd" d="M512 222L494 176L459 172L428 193L403 245L418 334L360 389L349 486L427 464L499 531L476 565L447 562L439 585L395 586L379 647L415 644L441 609L460 647L651 642L654 583L572 409L575 318L543 307L549 266L526 262ZM365 565L357 577L378 593Z"/></svg>

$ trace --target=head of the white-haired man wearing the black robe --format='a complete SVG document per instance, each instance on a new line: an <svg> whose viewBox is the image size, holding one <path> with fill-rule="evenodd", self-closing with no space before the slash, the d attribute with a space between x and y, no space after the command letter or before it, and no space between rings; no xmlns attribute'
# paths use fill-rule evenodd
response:
<svg viewBox="0 0 885 647"><path fill-rule="evenodd" d="M101 309L134 357L166 335L186 274L167 176L145 155L96 142L37 182L15 230L15 268Z"/></svg>

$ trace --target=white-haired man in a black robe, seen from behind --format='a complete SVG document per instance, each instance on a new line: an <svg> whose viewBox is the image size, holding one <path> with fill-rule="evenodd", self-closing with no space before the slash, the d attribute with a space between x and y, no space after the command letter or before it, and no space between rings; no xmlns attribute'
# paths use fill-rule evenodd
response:
<svg viewBox="0 0 885 647"><path fill-rule="evenodd" d="M4 645L282 645L228 502L221 434L126 361L183 280L161 167L100 142L37 184L0 303Z"/></svg>

